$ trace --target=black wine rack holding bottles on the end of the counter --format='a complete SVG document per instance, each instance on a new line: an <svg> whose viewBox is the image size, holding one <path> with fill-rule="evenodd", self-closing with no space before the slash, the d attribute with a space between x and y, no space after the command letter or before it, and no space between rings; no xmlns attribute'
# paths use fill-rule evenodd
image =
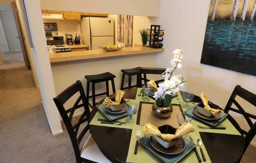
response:
<svg viewBox="0 0 256 163"><path fill-rule="evenodd" d="M163 43L159 43L160 41L163 41L162 36L164 35L163 29L160 29L160 25L150 25L150 29L147 30L149 30L149 45L147 45L147 47L163 47Z"/></svg>

